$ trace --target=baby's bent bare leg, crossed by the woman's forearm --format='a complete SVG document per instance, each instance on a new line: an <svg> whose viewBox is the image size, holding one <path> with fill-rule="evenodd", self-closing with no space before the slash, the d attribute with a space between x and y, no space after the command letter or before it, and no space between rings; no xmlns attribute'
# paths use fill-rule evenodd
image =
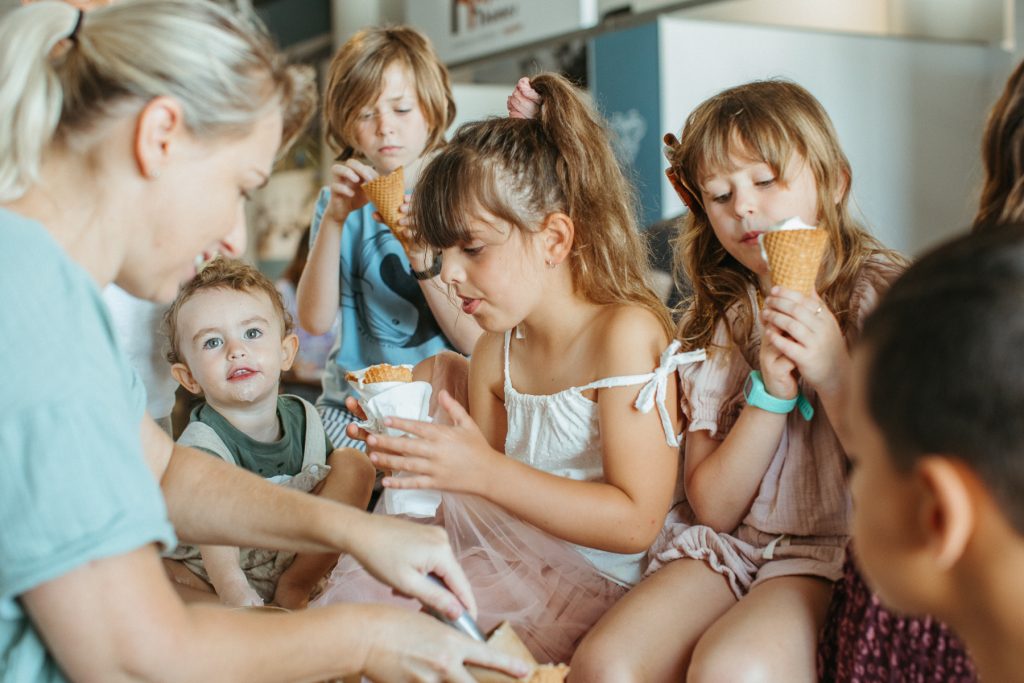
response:
<svg viewBox="0 0 1024 683"><path fill-rule="evenodd" d="M355 449L337 449L328 456L331 472L313 490L332 501L365 510L374 487L375 468L367 454ZM302 553L295 556L273 594L274 604L289 609L305 607L309 594L335 562L337 553Z"/></svg>

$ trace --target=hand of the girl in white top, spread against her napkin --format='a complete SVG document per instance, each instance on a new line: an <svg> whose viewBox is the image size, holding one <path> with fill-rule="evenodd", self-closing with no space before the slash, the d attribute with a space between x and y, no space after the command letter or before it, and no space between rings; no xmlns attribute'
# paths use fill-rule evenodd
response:
<svg viewBox="0 0 1024 683"><path fill-rule="evenodd" d="M367 438L370 460L380 469L404 472L384 477L390 488L436 488L482 494L487 482L484 468L498 456L466 409L447 391L437 395L438 405L453 424L435 425L416 420L388 418L384 424L416 438L371 434Z"/></svg>

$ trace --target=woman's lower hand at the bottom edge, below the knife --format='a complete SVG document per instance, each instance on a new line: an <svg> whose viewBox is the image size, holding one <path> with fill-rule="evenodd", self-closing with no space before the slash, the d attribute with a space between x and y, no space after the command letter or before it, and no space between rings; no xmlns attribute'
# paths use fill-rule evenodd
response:
<svg viewBox="0 0 1024 683"><path fill-rule="evenodd" d="M470 640L426 614L385 605L373 608L374 616L367 624L369 649L362 669L373 681L473 683L467 664L514 677L529 673L524 661Z"/></svg>

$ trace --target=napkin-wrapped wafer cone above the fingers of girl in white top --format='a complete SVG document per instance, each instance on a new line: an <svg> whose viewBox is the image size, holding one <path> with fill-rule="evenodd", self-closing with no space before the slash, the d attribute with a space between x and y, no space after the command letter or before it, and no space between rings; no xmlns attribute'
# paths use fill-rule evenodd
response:
<svg viewBox="0 0 1024 683"><path fill-rule="evenodd" d="M406 432L400 429L385 427L384 418L429 422L432 387L429 382L414 382L412 377L412 366L371 366L348 373L345 379L355 389L367 414L367 419L356 424L374 434L403 436Z"/></svg>

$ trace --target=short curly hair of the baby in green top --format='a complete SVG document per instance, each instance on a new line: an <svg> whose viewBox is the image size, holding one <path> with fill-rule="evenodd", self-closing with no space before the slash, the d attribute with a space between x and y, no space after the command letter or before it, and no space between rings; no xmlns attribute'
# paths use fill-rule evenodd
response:
<svg viewBox="0 0 1024 683"><path fill-rule="evenodd" d="M167 361L171 365L184 362L178 345L178 313L185 302L200 292L206 290L232 290L255 294L262 292L270 299L273 310L281 321L282 339L292 333L294 322L291 313L285 308L281 292L266 275L245 261L230 258L217 258L210 261L195 278L181 286L174 303L164 314L164 333L167 335L169 348Z"/></svg>

